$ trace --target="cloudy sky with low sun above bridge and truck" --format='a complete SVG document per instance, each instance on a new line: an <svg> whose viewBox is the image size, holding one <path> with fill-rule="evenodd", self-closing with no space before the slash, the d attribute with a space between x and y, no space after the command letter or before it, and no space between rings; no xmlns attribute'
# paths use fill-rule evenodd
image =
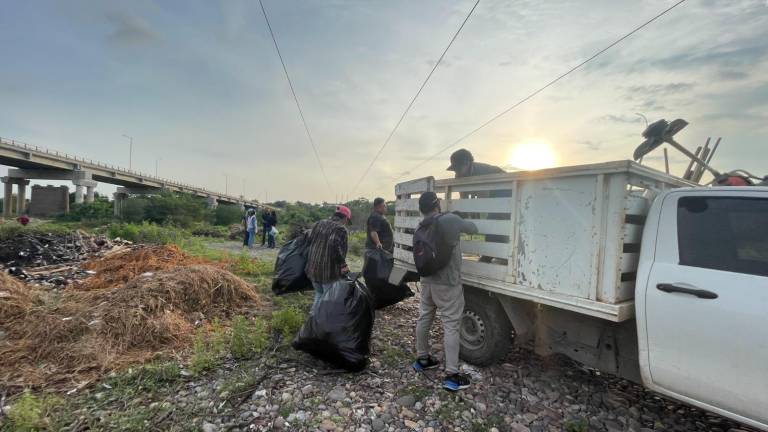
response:
<svg viewBox="0 0 768 432"><path fill-rule="evenodd" d="M393 199L398 177L449 177L460 147L501 166L520 146L557 166L630 159L636 113L687 120L689 149L722 137L716 168L768 174L766 0L687 0L413 170L674 3L481 0L357 190L474 0L264 0L330 187L258 1L1 3L0 136L128 166L127 134L135 169L247 198Z"/></svg>

